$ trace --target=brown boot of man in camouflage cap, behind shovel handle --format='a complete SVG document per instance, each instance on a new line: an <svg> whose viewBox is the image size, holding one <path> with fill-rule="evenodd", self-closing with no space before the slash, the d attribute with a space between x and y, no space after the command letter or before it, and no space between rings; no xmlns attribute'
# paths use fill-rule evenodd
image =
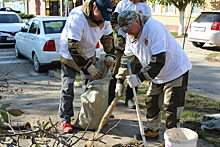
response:
<svg viewBox="0 0 220 147"><path fill-rule="evenodd" d="M146 139L158 139L159 138L159 130L153 131L151 129L144 130L144 136ZM134 135L136 140L142 140L141 134Z"/></svg>

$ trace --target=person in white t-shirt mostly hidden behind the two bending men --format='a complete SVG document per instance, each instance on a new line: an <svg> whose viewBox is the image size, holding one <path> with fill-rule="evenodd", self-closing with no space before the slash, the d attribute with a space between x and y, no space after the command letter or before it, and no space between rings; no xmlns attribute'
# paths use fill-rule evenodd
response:
<svg viewBox="0 0 220 147"><path fill-rule="evenodd" d="M125 11L125 10L133 10L133 11L136 11L140 14L147 14L147 15L151 16L151 9L148 6L148 4L145 2L145 0L121 0L117 4L117 6L114 10L111 24L112 24L113 29L117 33L117 37L115 37L116 64L113 68L113 79L110 82L109 104L111 103L111 101L115 97L115 89L122 88L121 84L116 83L115 75L118 73L118 69L120 66L125 66L124 64L120 64L121 60L124 60L124 58L125 58L123 56L124 49L125 49L124 48L125 47L125 36L124 36L125 34L123 32L118 32L117 17L118 17L118 14L122 13L122 11ZM133 73L138 73L141 69L141 64L135 56L133 56L133 58L132 58L131 66L132 66ZM137 87L136 87L136 90L137 90ZM134 109L135 104L133 101L133 92L132 92L132 89L130 88L129 85L126 87L125 93L126 93L125 94L126 95L125 96L125 105L128 108ZM117 95L122 96L122 93L117 93Z"/></svg>

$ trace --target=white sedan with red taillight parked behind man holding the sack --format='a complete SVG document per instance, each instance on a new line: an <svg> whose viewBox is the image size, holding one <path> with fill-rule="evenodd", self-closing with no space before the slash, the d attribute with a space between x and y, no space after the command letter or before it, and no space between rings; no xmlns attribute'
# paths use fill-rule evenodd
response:
<svg viewBox="0 0 220 147"><path fill-rule="evenodd" d="M59 41L66 17L36 17L15 35L15 55L27 57L36 72L60 63Z"/></svg>

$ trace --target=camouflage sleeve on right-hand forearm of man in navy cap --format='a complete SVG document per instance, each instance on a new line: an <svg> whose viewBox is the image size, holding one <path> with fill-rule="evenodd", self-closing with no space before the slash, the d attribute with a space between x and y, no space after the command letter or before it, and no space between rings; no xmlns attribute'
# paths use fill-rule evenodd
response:
<svg viewBox="0 0 220 147"><path fill-rule="evenodd" d="M115 47L114 47L114 38L113 33L109 35L103 35L100 39L100 42L103 45L106 56L112 56L115 59Z"/></svg>

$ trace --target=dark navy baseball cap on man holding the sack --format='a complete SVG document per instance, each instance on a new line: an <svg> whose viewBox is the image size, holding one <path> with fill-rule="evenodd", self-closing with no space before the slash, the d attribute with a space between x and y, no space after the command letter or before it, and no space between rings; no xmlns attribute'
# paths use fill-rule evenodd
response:
<svg viewBox="0 0 220 147"><path fill-rule="evenodd" d="M96 6L101 11L102 18L111 21L113 9L111 0L96 0Z"/></svg>

